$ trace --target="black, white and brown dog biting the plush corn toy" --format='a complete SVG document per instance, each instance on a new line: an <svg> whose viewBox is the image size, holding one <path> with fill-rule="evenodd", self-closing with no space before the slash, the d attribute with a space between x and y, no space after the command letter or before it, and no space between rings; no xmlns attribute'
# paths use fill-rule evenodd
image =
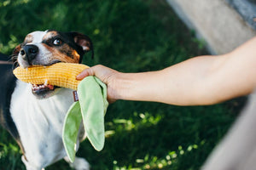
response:
<svg viewBox="0 0 256 170"><path fill-rule="evenodd" d="M34 31L15 48L13 64L0 61L0 121L20 145L26 169L41 170L62 158L68 161L61 134L64 117L73 104L73 91L20 82L12 73L14 67L80 63L90 50L93 55L90 38L78 32ZM82 130L78 144L80 139L84 139ZM79 157L70 165L74 169L90 168Z"/></svg>

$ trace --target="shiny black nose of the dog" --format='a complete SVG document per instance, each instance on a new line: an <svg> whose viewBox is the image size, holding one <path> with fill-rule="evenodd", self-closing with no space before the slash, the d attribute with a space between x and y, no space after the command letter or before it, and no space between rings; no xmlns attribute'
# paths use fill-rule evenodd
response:
<svg viewBox="0 0 256 170"><path fill-rule="evenodd" d="M32 64L32 59L35 59L38 54L38 46L26 45L20 49L20 55L22 59L25 59L30 65Z"/></svg>

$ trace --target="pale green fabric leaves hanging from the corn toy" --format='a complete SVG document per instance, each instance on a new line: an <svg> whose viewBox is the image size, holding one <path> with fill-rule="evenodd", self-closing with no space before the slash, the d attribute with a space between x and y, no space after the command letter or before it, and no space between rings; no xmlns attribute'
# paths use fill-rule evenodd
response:
<svg viewBox="0 0 256 170"><path fill-rule="evenodd" d="M107 87L96 77L85 77L78 87L79 101L67 111L63 143L67 156L74 161L81 121L90 144L100 151L105 142L104 115L108 108Z"/></svg>

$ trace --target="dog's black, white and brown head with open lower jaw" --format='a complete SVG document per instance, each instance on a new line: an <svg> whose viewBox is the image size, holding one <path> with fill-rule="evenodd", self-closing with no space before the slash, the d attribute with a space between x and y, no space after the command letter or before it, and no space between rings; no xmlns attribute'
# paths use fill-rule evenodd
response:
<svg viewBox="0 0 256 170"><path fill-rule="evenodd" d="M23 68L30 65L53 65L58 62L81 63L84 53L92 52L90 38L78 32L33 31L13 52L13 59ZM55 88L33 84L32 93L38 98L49 97Z"/></svg>

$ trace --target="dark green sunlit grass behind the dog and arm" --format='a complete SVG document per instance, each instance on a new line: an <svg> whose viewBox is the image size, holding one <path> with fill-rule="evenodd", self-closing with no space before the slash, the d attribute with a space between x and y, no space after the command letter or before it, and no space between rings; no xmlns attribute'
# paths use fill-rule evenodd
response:
<svg viewBox="0 0 256 170"><path fill-rule="evenodd" d="M95 59L125 72L155 71L207 54L163 0L0 1L0 52L11 54L27 33L56 29L79 31L94 42ZM180 107L117 101L106 115L106 143L101 152L85 140L78 156L94 170L196 170L224 136L244 99L220 105ZM20 149L0 128L0 169L25 169ZM59 161L47 170L69 169Z"/></svg>

